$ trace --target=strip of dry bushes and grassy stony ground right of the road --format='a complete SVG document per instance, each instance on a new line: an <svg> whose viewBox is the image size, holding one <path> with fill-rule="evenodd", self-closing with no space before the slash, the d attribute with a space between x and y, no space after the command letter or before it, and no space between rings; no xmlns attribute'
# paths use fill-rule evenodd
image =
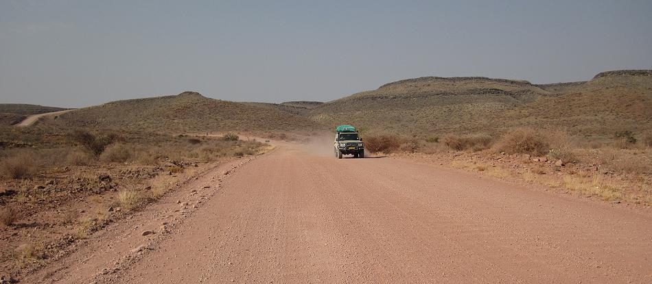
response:
<svg viewBox="0 0 652 284"><path fill-rule="evenodd" d="M498 178L521 179L605 201L652 205L652 148L647 133L618 131L609 141L587 141L565 131L509 129L492 137L431 135L425 140L384 135L366 139L368 149L383 153L434 154L454 168L484 172ZM370 142L371 141L371 142ZM390 150L386 144L394 145ZM415 143L403 151L397 144Z"/></svg>

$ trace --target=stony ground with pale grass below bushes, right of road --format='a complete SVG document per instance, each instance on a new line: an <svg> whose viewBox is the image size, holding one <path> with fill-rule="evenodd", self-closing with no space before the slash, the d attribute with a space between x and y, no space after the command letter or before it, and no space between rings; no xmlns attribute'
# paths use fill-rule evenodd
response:
<svg viewBox="0 0 652 284"><path fill-rule="evenodd" d="M636 160L652 160L649 151L629 151ZM599 162L568 162L527 154L507 155L493 151L439 152L434 154L399 153L398 157L410 157L421 162L434 163L453 168L480 172L498 179L520 183L543 185L548 190L601 199L611 203L626 203L649 207L652 205L652 175L634 172L621 167L603 165ZM601 154L585 153L598 161ZM585 157L585 159L587 159ZM590 159L589 159L590 160ZM631 162L635 164L633 160Z"/></svg>

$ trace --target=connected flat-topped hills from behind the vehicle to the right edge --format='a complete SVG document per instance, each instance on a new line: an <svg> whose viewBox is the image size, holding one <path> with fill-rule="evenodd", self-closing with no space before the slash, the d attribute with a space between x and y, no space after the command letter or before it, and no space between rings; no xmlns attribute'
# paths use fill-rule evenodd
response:
<svg viewBox="0 0 652 284"><path fill-rule="evenodd" d="M370 131L500 132L515 126L583 135L652 128L652 71L600 73L591 81L535 85L486 77L421 77L387 83L312 109L329 127Z"/></svg>

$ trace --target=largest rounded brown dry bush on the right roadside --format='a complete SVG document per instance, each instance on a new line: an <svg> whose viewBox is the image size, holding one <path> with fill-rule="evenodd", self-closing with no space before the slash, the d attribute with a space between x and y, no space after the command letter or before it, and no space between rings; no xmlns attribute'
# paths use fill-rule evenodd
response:
<svg viewBox="0 0 652 284"><path fill-rule="evenodd" d="M545 155L550 151L548 139L534 129L518 128L508 131L496 143L496 151L508 154Z"/></svg>

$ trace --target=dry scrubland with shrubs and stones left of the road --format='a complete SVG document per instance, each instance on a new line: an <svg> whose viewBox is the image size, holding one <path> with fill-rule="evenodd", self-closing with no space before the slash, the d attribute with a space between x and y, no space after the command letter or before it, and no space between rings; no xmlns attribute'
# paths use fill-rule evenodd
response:
<svg viewBox="0 0 652 284"><path fill-rule="evenodd" d="M179 179L266 150L233 133L30 127L10 129L0 141L0 271L14 275L45 265L56 251L155 202Z"/></svg>

